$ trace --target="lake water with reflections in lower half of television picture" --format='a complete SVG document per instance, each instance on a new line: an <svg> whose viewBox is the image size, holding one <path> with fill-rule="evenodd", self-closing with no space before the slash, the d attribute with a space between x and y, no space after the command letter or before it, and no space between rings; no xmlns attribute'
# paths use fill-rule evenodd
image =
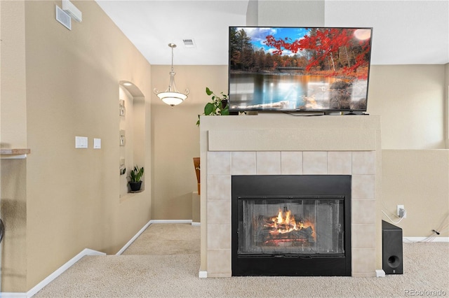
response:
<svg viewBox="0 0 449 298"><path fill-rule="evenodd" d="M366 106L367 87L367 80L347 83L323 76L234 73L229 81L229 93L233 94L229 108L329 111L342 106L333 105L332 99L346 99L350 109Z"/></svg>

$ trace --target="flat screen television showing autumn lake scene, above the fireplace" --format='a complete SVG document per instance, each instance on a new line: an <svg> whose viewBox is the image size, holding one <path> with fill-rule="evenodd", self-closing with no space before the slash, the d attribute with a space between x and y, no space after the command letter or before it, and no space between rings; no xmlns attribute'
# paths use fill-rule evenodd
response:
<svg viewBox="0 0 449 298"><path fill-rule="evenodd" d="M372 33L229 27L229 111L366 112Z"/></svg>

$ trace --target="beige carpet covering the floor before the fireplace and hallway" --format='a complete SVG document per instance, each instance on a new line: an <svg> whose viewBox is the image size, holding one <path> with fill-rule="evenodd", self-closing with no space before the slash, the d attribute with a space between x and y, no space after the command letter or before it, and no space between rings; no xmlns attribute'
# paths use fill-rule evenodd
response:
<svg viewBox="0 0 449 298"><path fill-rule="evenodd" d="M150 225L123 255L83 257L34 297L449 296L449 243L404 243L404 274L385 278L198 278L199 229Z"/></svg>

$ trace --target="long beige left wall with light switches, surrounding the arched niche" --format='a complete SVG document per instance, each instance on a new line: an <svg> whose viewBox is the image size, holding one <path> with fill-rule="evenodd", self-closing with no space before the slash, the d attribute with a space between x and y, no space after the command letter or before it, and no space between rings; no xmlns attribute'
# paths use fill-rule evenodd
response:
<svg viewBox="0 0 449 298"><path fill-rule="evenodd" d="M27 256L19 275L2 272L2 292L29 290L84 248L116 253L151 214L150 183L145 192L119 198L118 108L119 81L135 83L145 96L138 155L151 169L151 66L95 1L76 1L83 21L72 21L72 31L55 20L55 5L61 6L60 1L6 1L1 6L1 143L32 150L26 171L2 166L3 177L22 178L14 182L23 189L20 194L26 193L26 234L20 234L26 245L15 247L15 254ZM18 25L4 26L5 16ZM18 67L3 63L10 59ZM6 78L13 71L18 76ZM15 118L17 129L10 122ZM26 125L26 137L18 140L21 125ZM88 148L75 149L75 136L87 136ZM100 150L93 150L93 138L102 140ZM151 180L151 171L145 180ZM11 193L2 187L2 205L4 195L20 200ZM4 260L8 254L5 249Z"/></svg>

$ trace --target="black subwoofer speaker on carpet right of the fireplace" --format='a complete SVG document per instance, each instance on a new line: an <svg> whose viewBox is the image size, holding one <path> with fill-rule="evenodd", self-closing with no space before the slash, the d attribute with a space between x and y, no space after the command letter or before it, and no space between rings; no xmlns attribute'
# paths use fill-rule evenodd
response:
<svg viewBox="0 0 449 298"><path fill-rule="evenodd" d="M403 274L402 229L382 220L382 269L385 274Z"/></svg>

